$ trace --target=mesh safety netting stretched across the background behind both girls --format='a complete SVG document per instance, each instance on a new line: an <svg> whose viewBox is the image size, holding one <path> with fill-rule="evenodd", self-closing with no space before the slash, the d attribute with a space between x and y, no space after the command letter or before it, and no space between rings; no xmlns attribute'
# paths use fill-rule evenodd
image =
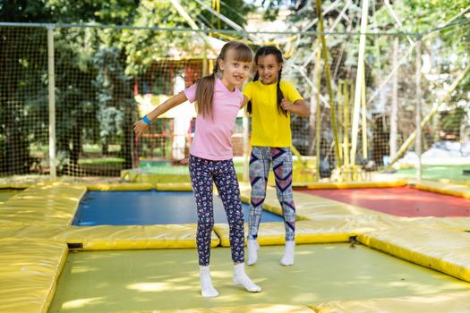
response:
<svg viewBox="0 0 470 313"><path fill-rule="evenodd" d="M172 163L188 156L196 115L191 104L160 116L140 139L133 136L132 123L211 72L226 37L189 30L56 27L52 31L55 139L48 132L47 29L0 27L0 175L48 174L50 140L55 140L59 176L118 177L123 170L152 166L162 167L158 173L187 171ZM414 175L417 60L422 64L426 120L423 176L435 174L426 172L435 170L433 165L470 164L468 74L459 80L469 66L465 47L469 33L467 23L423 38L368 34L364 77L359 79L357 34L326 35L327 64L324 57L318 59L316 34L253 33L238 39L248 38L253 50L260 47L253 43L258 39L258 43L275 42L283 51L283 79L294 83L311 111L310 117L292 115L291 126L295 162L300 166L296 169L307 173L305 181L313 182L366 179L363 173L390 164L400 165L400 173ZM416 55L418 41L421 55ZM365 97L356 97L361 90L357 84L364 86ZM241 111L233 136L239 172L249 155L249 130L250 118Z"/></svg>

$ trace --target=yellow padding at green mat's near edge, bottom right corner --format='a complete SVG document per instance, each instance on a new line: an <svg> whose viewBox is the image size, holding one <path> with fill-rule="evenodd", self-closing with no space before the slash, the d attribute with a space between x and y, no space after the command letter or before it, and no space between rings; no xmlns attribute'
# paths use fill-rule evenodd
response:
<svg viewBox="0 0 470 313"><path fill-rule="evenodd" d="M470 292L368 300L329 301L312 306L318 313L470 312Z"/></svg>

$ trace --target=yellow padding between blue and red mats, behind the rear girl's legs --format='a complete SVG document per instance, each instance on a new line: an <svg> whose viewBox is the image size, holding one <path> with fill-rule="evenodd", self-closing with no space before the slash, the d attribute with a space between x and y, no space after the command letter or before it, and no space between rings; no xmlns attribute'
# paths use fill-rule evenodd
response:
<svg viewBox="0 0 470 313"><path fill-rule="evenodd" d="M250 190L242 190L242 200L250 203ZM294 191L296 220L313 220L317 216L389 216L387 214L363 207L355 207L331 199L316 197L303 192ZM268 188L263 208L282 216L276 190Z"/></svg>

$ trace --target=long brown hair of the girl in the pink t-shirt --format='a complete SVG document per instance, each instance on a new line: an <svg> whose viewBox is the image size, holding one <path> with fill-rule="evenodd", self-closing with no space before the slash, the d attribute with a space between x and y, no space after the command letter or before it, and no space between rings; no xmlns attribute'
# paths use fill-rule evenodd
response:
<svg viewBox="0 0 470 313"><path fill-rule="evenodd" d="M238 62L252 62L252 49L243 42L229 41L227 42L217 57L214 65L214 71L207 76L197 80L196 102L198 105L198 113L202 114L205 119L213 120L212 102L214 99L214 83L216 82L216 74L218 72L218 62L226 61L228 51L232 51L231 57Z"/></svg>

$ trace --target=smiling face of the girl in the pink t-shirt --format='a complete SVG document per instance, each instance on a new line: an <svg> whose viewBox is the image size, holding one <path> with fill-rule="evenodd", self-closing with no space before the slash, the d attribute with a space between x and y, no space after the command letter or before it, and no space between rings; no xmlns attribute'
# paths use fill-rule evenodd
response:
<svg viewBox="0 0 470 313"><path fill-rule="evenodd" d="M219 62L220 70L223 72L221 80L226 88L241 88L244 80L248 78L252 63L237 61L233 51L228 51L226 59Z"/></svg>

